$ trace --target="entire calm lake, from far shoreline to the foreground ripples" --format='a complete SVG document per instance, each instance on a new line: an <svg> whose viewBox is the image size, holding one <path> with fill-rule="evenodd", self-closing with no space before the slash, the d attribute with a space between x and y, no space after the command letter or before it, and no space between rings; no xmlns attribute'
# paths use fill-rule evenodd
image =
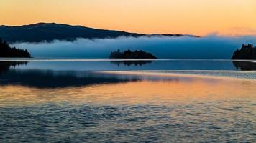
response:
<svg viewBox="0 0 256 143"><path fill-rule="evenodd" d="M256 61L0 59L0 142L256 142Z"/></svg>

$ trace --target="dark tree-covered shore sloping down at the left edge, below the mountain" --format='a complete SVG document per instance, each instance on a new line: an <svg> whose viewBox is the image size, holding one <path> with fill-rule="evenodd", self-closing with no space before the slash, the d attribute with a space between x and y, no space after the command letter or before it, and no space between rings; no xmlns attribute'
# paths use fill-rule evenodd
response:
<svg viewBox="0 0 256 143"><path fill-rule="evenodd" d="M15 46L10 47L6 41L0 39L0 57L4 58L31 58L27 49L17 49Z"/></svg>

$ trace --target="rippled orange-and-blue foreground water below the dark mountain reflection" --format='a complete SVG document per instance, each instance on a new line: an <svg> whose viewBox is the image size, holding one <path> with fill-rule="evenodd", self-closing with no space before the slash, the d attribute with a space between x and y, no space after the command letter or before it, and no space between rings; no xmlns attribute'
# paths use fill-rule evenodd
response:
<svg viewBox="0 0 256 143"><path fill-rule="evenodd" d="M254 142L255 84L180 77L54 89L5 85L0 140Z"/></svg>

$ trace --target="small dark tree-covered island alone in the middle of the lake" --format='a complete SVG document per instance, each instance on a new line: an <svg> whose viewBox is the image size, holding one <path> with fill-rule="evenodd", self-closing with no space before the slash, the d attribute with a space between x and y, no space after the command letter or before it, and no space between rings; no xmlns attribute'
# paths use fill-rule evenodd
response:
<svg viewBox="0 0 256 143"><path fill-rule="evenodd" d="M110 59L157 59L154 55L151 53L145 52L145 51L131 51L127 50L124 52L121 52L119 49L117 51L111 52Z"/></svg>

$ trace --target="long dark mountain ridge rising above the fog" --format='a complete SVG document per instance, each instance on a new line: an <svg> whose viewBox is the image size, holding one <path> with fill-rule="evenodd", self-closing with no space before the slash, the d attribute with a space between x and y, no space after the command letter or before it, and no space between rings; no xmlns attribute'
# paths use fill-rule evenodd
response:
<svg viewBox="0 0 256 143"><path fill-rule="evenodd" d="M38 23L24 26L0 26L0 38L9 42L40 42L52 40L73 41L77 38L116 38L118 36L160 36L160 34L136 34L125 31L92 29L85 26L68 24ZM191 36L182 34L164 34L162 36ZM196 37L196 36L195 36Z"/></svg>

